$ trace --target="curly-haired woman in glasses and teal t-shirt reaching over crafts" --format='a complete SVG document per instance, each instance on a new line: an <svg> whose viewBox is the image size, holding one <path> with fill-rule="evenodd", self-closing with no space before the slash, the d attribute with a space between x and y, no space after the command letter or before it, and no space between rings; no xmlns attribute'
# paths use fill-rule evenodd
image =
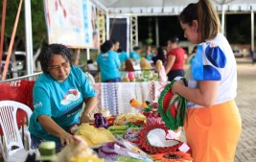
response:
<svg viewBox="0 0 256 162"><path fill-rule="evenodd" d="M69 127L90 121L97 104L96 92L81 69L72 65L72 54L66 46L50 44L39 59L43 74L33 88L31 148L37 149L43 141L55 141L60 150L74 142Z"/></svg>

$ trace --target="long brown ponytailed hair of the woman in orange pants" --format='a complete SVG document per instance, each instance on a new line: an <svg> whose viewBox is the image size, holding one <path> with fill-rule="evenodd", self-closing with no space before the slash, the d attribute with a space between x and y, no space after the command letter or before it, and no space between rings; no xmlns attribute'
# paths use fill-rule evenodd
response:
<svg viewBox="0 0 256 162"><path fill-rule="evenodd" d="M218 35L221 28L220 18L209 0L199 0L189 4L178 16L181 23L192 26L193 20L198 20L199 41L206 41Z"/></svg>

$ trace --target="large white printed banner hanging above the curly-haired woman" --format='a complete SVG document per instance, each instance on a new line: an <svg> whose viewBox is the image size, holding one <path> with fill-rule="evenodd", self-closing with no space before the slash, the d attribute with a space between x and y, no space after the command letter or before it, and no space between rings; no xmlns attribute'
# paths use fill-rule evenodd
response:
<svg viewBox="0 0 256 162"><path fill-rule="evenodd" d="M49 43L93 48L96 9L89 0L44 0ZM94 23L94 24L93 24Z"/></svg>

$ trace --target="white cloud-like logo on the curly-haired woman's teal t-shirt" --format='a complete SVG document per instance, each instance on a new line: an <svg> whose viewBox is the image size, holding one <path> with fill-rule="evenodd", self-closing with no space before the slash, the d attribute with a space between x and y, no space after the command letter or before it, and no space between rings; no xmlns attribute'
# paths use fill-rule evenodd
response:
<svg viewBox="0 0 256 162"><path fill-rule="evenodd" d="M67 105L71 104L72 102L76 102L80 99L81 92L78 89L71 88L68 90L67 95L63 96L60 104Z"/></svg>

